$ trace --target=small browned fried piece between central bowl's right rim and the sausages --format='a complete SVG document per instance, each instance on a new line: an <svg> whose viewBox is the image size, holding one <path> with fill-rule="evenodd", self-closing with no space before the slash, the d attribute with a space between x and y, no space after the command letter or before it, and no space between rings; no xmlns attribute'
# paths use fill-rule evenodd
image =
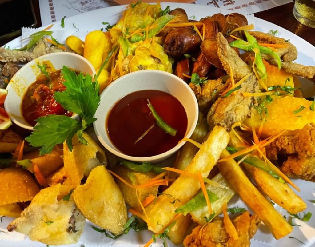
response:
<svg viewBox="0 0 315 247"><path fill-rule="evenodd" d="M194 91L198 106L202 110L209 110L210 106L215 102L219 95L229 87L230 83L222 78L217 80L208 80L201 85L189 83L190 88Z"/></svg>

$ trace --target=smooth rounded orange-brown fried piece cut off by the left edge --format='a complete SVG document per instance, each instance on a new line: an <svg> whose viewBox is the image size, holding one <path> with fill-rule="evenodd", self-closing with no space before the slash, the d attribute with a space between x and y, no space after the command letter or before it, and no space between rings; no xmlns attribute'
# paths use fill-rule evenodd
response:
<svg viewBox="0 0 315 247"><path fill-rule="evenodd" d="M31 173L17 168L6 168L0 171L0 215L19 217L20 205L31 201L39 188Z"/></svg>

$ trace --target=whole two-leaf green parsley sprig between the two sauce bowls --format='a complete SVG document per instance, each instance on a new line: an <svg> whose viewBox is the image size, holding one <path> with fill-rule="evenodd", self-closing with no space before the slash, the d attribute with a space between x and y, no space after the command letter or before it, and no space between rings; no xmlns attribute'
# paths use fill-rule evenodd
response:
<svg viewBox="0 0 315 247"><path fill-rule="evenodd" d="M83 138L83 130L89 127L96 118L93 115L100 103L100 87L97 82L92 82L89 74L78 75L66 66L62 68L62 75L65 79L66 90L55 92L55 100L67 111L77 113L81 121L64 115L47 115L37 118L34 127L35 131L28 137L31 146L41 147L40 155L52 152L54 146L66 141L70 151L72 151L72 137L77 134L78 141L87 144ZM96 77L96 75L95 75Z"/></svg>

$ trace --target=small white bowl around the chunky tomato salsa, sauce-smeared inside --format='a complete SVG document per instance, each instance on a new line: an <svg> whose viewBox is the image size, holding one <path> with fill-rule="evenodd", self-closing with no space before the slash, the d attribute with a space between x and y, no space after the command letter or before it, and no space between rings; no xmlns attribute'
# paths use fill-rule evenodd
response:
<svg viewBox="0 0 315 247"><path fill-rule="evenodd" d="M7 90L8 95L4 101L4 108L9 113L10 118L20 127L28 130L34 130L33 126L25 121L21 112L21 103L28 87L36 81L40 74L38 63L49 60L56 70L62 69L62 66L82 71L90 75L95 75L95 69L92 64L83 56L71 52L56 52L40 56L26 65L24 65L10 80ZM74 114L72 118L77 118Z"/></svg>

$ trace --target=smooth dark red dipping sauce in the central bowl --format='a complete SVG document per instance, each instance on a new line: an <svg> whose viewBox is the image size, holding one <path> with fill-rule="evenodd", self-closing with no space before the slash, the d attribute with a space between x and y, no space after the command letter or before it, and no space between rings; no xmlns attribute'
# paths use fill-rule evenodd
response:
<svg viewBox="0 0 315 247"><path fill-rule="evenodd" d="M147 99L160 117L177 130L175 136L157 126ZM117 101L106 122L109 139L119 151L129 156L149 157L175 147L186 134L188 120L184 106L173 95L159 90L141 90ZM154 127L136 142L153 124Z"/></svg>

